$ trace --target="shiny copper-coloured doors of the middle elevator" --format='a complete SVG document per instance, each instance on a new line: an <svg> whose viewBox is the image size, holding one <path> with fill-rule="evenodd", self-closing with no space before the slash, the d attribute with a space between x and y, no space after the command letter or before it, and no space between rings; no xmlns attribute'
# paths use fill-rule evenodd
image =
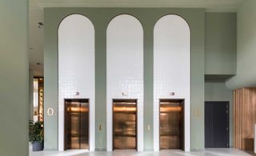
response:
<svg viewBox="0 0 256 156"><path fill-rule="evenodd" d="M137 100L113 100L113 149L137 149Z"/></svg>

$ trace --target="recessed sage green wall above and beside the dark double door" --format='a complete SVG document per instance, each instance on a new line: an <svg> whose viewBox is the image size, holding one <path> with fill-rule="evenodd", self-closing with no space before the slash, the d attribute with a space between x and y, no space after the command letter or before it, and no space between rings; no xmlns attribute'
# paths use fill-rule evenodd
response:
<svg viewBox="0 0 256 156"><path fill-rule="evenodd" d="M230 102L230 147L233 146L233 92L226 88L225 82L219 80L206 81L206 101L229 101Z"/></svg>

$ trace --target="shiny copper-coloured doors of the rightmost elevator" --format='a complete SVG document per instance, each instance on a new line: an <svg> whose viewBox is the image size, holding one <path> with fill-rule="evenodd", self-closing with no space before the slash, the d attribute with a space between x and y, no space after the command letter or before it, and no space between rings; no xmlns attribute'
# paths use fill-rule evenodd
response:
<svg viewBox="0 0 256 156"><path fill-rule="evenodd" d="M184 147L183 100L160 99L160 149Z"/></svg>

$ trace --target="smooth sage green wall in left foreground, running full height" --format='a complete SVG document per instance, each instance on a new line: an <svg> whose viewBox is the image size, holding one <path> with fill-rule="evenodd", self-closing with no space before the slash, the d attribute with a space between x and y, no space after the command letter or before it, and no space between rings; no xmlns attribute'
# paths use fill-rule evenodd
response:
<svg viewBox="0 0 256 156"><path fill-rule="evenodd" d="M0 155L27 156L28 1L0 1Z"/></svg>

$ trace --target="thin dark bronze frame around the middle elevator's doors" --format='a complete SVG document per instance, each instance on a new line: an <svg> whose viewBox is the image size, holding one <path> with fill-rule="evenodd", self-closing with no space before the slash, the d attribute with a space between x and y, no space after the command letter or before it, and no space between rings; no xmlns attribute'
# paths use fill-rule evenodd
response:
<svg viewBox="0 0 256 156"><path fill-rule="evenodd" d="M135 118L135 131L136 131L136 151L138 151L138 99L112 99L112 150L114 150L114 101L122 101L120 103L127 103L127 101L135 101L136 103L136 118ZM132 150L132 149L124 149L124 150Z"/></svg>

